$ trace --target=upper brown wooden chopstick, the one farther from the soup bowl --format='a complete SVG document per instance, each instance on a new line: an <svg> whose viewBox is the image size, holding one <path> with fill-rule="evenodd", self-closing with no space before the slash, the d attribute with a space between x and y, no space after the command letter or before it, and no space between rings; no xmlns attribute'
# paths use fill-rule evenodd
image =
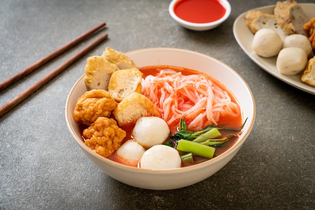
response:
<svg viewBox="0 0 315 210"><path fill-rule="evenodd" d="M19 79L23 78L27 74L31 73L35 69L39 68L40 66L44 65L51 59L55 58L56 56L60 55L64 51L70 49L74 45L80 43L85 38L89 37L91 34L96 32L97 30L104 27L106 23L101 23L100 25L96 26L95 28L91 29L90 31L84 33L80 37L77 37L76 39L72 40L71 42L67 43L66 45L60 47L56 51L50 53L49 55L41 58L40 60L36 61L35 63L31 64L30 66L26 67L25 69L21 70L20 72L16 73L15 75L9 77L8 79L4 80L0 83L0 91L8 87L9 85L13 84L14 82L18 81Z"/></svg>

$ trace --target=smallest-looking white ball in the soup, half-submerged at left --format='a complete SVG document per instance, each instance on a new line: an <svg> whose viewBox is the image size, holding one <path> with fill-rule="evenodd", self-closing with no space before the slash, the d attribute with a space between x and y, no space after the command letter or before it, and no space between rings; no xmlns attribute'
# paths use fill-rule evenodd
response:
<svg viewBox="0 0 315 210"><path fill-rule="evenodd" d="M128 140L118 148L116 155L129 165L136 166L144 152L141 145L134 140Z"/></svg>

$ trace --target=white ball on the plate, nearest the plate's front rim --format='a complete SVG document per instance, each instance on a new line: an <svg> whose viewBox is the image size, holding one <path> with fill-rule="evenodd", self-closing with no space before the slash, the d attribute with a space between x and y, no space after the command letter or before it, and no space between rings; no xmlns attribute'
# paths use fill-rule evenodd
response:
<svg viewBox="0 0 315 210"><path fill-rule="evenodd" d="M277 57L276 66L281 74L295 75L304 70L307 56L304 50L298 47L283 48Z"/></svg>

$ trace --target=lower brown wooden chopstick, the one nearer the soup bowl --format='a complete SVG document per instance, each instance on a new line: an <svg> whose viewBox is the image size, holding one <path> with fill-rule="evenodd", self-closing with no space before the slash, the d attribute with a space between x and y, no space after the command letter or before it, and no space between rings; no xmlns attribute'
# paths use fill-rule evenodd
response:
<svg viewBox="0 0 315 210"><path fill-rule="evenodd" d="M35 84L21 92L19 95L11 99L9 102L5 103L2 107L0 107L0 117L3 116L5 113L7 113L9 110L14 108L18 103L20 103L22 100L24 100L26 97L31 95L33 92L35 92L38 88L40 88L42 85L44 85L46 82L48 82L50 79L55 77L58 73L63 71L65 68L70 66L72 63L74 63L77 59L82 57L84 54L89 52L91 49L93 49L95 46L97 46L99 43L101 43L104 39L107 38L107 34L102 35L100 38L98 38L96 41L88 45L86 48L72 56L70 59L68 59L66 62L55 68L53 71L48 73L46 76L41 78L39 81L37 81Z"/></svg>

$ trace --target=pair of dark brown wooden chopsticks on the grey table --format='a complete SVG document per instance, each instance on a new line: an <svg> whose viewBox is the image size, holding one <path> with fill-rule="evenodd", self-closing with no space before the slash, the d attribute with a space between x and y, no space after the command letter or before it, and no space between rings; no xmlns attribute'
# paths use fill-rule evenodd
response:
<svg viewBox="0 0 315 210"><path fill-rule="evenodd" d="M0 83L0 91L8 87L9 85L13 84L14 82L18 81L19 79L23 78L27 74L31 73L35 69L39 68L40 66L44 65L48 61L52 60L56 56L60 55L61 53L65 52L66 50L70 49L74 45L82 42L84 39L98 31L99 29L103 28L106 25L106 23L102 23L95 28L91 29L90 31L84 33L80 37L77 37L73 41L69 42L68 44L62 46L61 48L57 49L56 51L50 53L49 55L43 57L42 59L36 61L35 63L31 64L30 66L26 67L25 69L21 70L17 74L11 76L10 78L4 80ZM45 83L47 83L49 80L51 80L53 77L55 77L57 74L59 74L61 71L66 69L68 66L70 66L72 63L74 63L76 60L81 58L83 55L88 53L90 50L92 50L94 47L96 47L99 43L101 43L103 40L107 38L107 34L102 35L100 38L95 40L93 43L88 45L86 48L81 50L80 52L76 53L74 56L72 56L70 59L65 61L63 64L52 70L50 73L48 73L46 76L41 78L39 81L37 81L35 84L18 94L16 97L11 99L9 102L5 103L2 107L0 107L0 117L3 116L5 113L7 113L9 110L14 108L18 103L20 103L22 100L24 100L26 97L31 95L33 92L35 92L37 89L39 89L41 86L43 86Z"/></svg>

